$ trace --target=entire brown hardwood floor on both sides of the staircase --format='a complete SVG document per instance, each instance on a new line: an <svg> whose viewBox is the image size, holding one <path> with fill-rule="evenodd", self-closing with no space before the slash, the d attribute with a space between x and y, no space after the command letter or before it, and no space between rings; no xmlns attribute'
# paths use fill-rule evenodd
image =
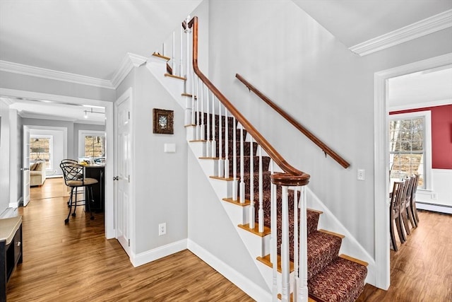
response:
<svg viewBox="0 0 452 302"><path fill-rule="evenodd" d="M33 187L23 215L23 264L8 301L253 301L189 250L133 267L117 240L104 237L103 214L68 208L61 178ZM367 284L362 301L452 301L452 216L420 211L420 226L391 250L391 287Z"/></svg>

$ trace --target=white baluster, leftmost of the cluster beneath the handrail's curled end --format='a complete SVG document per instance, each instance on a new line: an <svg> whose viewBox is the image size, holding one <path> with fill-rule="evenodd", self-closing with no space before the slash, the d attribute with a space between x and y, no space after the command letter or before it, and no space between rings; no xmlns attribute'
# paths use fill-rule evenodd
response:
<svg viewBox="0 0 452 302"><path fill-rule="evenodd" d="M270 159L270 173L273 175L273 159ZM276 221L276 185L270 185L270 262L273 265L272 301L278 301L278 222Z"/></svg>

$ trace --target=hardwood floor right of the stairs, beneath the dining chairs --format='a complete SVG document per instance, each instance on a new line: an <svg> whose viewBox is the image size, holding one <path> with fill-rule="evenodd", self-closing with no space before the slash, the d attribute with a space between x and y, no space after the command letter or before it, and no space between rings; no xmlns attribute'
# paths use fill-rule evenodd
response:
<svg viewBox="0 0 452 302"><path fill-rule="evenodd" d="M388 291L367 284L357 301L452 301L452 215L420 211L419 219L398 252L391 250Z"/></svg>

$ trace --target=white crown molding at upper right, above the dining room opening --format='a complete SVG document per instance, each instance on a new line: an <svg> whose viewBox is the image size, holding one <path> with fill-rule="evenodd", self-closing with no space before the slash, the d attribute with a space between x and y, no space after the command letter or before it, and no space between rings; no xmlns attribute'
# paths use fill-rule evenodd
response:
<svg viewBox="0 0 452 302"><path fill-rule="evenodd" d="M367 54L378 52L450 27L452 27L452 9L399 28L398 30L393 30L379 37L374 37L373 39L350 47L349 50L363 57Z"/></svg>

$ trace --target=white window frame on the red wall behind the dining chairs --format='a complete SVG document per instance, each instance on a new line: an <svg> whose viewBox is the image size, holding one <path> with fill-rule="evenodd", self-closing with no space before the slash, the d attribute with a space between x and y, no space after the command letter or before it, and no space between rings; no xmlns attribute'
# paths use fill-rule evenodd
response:
<svg viewBox="0 0 452 302"><path fill-rule="evenodd" d="M432 190L432 112L425 110L391 114L389 115L389 122L415 118L424 118L424 187L419 187L417 190L430 191ZM390 150L388 150L388 156L391 156ZM388 163L389 160L390 158L388 158Z"/></svg>

